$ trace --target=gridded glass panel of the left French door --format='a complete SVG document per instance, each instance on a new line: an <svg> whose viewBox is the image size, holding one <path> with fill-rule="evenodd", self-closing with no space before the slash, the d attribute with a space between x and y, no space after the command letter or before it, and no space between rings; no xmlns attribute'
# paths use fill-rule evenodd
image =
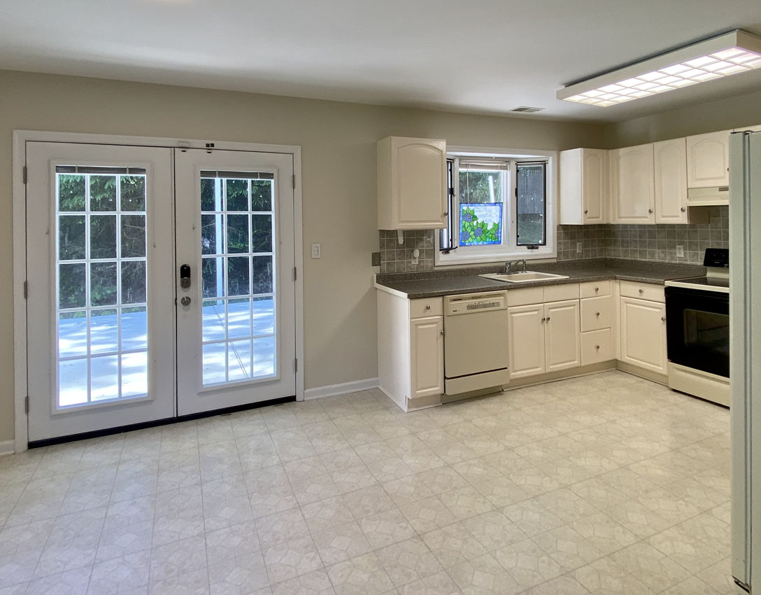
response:
<svg viewBox="0 0 761 595"><path fill-rule="evenodd" d="M62 169L69 173L56 173L56 405L145 396L145 174Z"/></svg>

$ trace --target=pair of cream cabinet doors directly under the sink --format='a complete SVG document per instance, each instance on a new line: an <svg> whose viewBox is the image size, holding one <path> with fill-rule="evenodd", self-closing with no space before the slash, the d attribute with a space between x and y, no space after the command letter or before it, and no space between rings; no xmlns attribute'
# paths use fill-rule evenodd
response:
<svg viewBox="0 0 761 595"><path fill-rule="evenodd" d="M508 308L510 378L581 365L578 299Z"/></svg>

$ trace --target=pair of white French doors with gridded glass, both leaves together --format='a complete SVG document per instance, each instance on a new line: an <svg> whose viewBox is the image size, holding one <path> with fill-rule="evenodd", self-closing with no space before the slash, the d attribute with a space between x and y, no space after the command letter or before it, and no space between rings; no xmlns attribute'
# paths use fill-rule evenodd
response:
<svg viewBox="0 0 761 595"><path fill-rule="evenodd" d="M292 155L30 141L26 165L30 442L295 395Z"/></svg>

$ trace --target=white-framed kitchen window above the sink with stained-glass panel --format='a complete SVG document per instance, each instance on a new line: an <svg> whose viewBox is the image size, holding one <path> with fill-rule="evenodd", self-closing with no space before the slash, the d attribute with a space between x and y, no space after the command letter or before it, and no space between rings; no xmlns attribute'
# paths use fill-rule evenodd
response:
<svg viewBox="0 0 761 595"><path fill-rule="evenodd" d="M451 152L436 264L554 258L554 152Z"/></svg>

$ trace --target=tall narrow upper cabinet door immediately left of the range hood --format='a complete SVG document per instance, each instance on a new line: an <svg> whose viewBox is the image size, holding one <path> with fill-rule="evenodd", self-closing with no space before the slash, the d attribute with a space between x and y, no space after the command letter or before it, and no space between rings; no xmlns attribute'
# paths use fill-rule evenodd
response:
<svg viewBox="0 0 761 595"><path fill-rule="evenodd" d="M685 139L653 144L656 223L687 222L687 149Z"/></svg>

